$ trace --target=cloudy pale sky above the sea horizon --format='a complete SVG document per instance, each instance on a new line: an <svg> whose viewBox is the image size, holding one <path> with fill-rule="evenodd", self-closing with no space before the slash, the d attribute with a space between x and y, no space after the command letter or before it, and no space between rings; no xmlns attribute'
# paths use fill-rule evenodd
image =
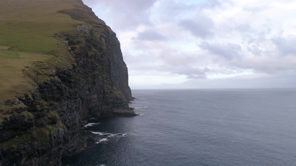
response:
<svg viewBox="0 0 296 166"><path fill-rule="evenodd" d="M132 89L296 87L296 0L83 0Z"/></svg>

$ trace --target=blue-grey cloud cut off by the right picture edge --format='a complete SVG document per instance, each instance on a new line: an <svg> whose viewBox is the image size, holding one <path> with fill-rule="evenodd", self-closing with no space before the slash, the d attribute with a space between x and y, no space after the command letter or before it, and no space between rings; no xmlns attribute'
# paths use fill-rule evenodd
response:
<svg viewBox="0 0 296 166"><path fill-rule="evenodd" d="M290 35L287 37L275 37L272 39L274 44L277 46L281 55L296 55L296 36Z"/></svg>

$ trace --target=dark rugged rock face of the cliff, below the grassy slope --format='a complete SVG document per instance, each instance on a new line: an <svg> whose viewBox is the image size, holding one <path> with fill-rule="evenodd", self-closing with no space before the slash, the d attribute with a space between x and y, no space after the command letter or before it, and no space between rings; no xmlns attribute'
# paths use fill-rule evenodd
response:
<svg viewBox="0 0 296 166"><path fill-rule="evenodd" d="M116 34L82 1L74 1L81 5L59 12L81 24L55 35L66 62L57 56L34 63L25 74L34 77L35 89L7 101L21 107L2 110L7 118L0 121L0 165L60 165L62 156L84 146L82 120L135 115L128 107L132 96Z"/></svg>

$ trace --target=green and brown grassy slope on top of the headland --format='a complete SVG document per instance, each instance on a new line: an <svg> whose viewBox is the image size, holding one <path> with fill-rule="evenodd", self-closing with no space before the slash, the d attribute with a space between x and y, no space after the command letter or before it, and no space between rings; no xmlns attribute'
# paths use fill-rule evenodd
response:
<svg viewBox="0 0 296 166"><path fill-rule="evenodd" d="M22 96L33 88L32 77L24 72L34 75L34 61L45 62L43 65L47 67L42 68L43 73L49 73L46 70L50 66L70 63L67 48L56 38L56 34L73 30L82 23L58 12L81 5L69 1L1 0L0 109L4 109L5 101Z"/></svg>

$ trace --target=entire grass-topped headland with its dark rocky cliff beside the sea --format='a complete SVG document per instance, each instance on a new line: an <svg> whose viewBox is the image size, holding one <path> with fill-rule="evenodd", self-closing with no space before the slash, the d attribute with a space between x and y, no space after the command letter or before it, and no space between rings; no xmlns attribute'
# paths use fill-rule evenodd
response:
<svg viewBox="0 0 296 166"><path fill-rule="evenodd" d="M135 115L120 43L91 8L1 3L0 165L60 165L83 146L82 120Z"/></svg>

